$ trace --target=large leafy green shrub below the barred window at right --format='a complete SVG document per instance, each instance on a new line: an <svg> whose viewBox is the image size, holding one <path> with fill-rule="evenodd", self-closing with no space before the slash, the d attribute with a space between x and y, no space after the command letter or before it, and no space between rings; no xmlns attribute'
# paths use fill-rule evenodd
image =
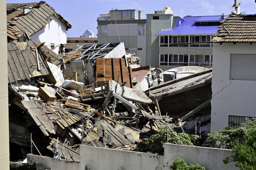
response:
<svg viewBox="0 0 256 170"><path fill-rule="evenodd" d="M256 166L256 118L250 121L246 118L240 128L229 126L223 130L211 131L208 143L212 147L232 149L234 155L223 159L224 163L236 162L241 170L253 170Z"/></svg>

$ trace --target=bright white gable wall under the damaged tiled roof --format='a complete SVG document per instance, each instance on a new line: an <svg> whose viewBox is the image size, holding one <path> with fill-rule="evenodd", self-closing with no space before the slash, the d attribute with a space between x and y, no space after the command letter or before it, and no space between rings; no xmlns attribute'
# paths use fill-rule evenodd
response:
<svg viewBox="0 0 256 170"><path fill-rule="evenodd" d="M60 46L60 43L66 43L66 25L55 15L51 17L53 20L44 29L31 36L33 41L39 39L41 42L45 42L45 45L50 49L50 43L54 43L54 46ZM59 52L59 46L53 50L56 54Z"/></svg>

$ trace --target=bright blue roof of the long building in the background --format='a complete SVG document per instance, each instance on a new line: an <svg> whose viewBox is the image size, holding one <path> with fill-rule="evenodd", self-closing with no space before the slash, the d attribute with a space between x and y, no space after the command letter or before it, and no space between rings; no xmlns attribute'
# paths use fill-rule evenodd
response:
<svg viewBox="0 0 256 170"><path fill-rule="evenodd" d="M228 17L228 16L227 16ZM174 30L162 30L157 35L192 35L192 34L215 34L218 26L196 26L196 22L222 21L221 15L217 16L185 16L184 22Z"/></svg>

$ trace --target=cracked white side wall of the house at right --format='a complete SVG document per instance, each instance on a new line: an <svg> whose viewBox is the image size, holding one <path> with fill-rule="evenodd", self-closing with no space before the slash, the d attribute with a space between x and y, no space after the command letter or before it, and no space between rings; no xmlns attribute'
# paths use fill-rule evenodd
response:
<svg viewBox="0 0 256 170"><path fill-rule="evenodd" d="M255 49L256 43L214 44L211 129L223 129L228 125L229 115L256 117L256 81L229 79L230 54L255 54Z"/></svg>

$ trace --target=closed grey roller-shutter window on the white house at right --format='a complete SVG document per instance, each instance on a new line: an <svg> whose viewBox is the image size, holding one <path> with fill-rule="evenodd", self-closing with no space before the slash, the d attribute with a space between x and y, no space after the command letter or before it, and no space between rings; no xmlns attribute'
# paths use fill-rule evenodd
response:
<svg viewBox="0 0 256 170"><path fill-rule="evenodd" d="M256 54L231 54L230 79L256 80Z"/></svg>

